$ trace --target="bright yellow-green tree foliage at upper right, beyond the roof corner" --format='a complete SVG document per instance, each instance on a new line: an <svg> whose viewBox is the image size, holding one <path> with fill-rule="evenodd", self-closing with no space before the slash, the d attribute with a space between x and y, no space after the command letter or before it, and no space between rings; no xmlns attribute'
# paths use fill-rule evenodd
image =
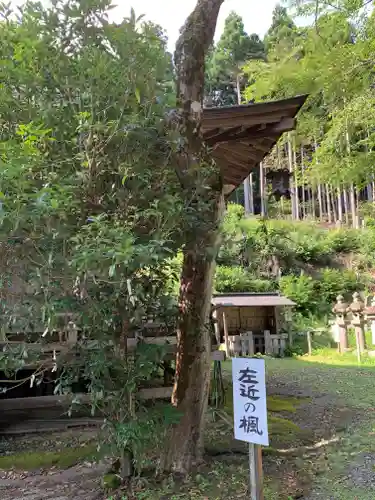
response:
<svg viewBox="0 0 375 500"><path fill-rule="evenodd" d="M374 175L374 13L361 10L362 2L291 4L313 23L297 28L292 10L275 7L267 61L249 59L244 67L245 99L308 94L294 134L297 156L300 146L307 153L304 182L362 189Z"/></svg>

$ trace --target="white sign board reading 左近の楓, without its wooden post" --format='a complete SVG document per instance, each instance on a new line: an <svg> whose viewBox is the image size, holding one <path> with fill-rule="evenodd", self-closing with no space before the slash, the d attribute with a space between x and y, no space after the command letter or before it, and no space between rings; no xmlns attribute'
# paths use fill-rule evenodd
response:
<svg viewBox="0 0 375 500"><path fill-rule="evenodd" d="M269 445L264 359L233 358L234 437Z"/></svg>

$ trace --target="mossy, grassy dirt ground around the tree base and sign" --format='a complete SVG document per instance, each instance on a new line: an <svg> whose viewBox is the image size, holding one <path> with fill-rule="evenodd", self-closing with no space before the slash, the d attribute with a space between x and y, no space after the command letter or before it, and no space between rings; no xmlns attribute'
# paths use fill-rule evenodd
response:
<svg viewBox="0 0 375 500"><path fill-rule="evenodd" d="M229 364L226 369L230 373ZM277 427L279 417L285 418L287 423L296 424L297 430L291 429L290 442L284 440L288 427L282 428L280 442L272 442L271 433L272 453L264 450L266 500L374 500L375 369L267 360L267 379L269 395L298 398L299 403L293 411L281 410L271 422ZM298 429L305 435L300 436ZM7 437L0 440L0 455L83 446L90 440L90 432L93 430L74 429L49 436ZM207 440L214 453L197 474L200 479L160 484L144 478L138 489L147 494L142 498L248 498L243 443L233 441L224 421L209 423ZM100 480L107 467L83 460L67 470L0 471L0 499L105 500Z"/></svg>

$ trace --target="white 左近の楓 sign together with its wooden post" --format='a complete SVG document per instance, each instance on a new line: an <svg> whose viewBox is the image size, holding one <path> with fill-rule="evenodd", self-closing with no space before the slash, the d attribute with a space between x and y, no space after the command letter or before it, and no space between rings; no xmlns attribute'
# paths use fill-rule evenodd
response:
<svg viewBox="0 0 375 500"><path fill-rule="evenodd" d="M269 445L264 365L264 359L232 359L234 437L249 443L251 500L264 500L261 446Z"/></svg>

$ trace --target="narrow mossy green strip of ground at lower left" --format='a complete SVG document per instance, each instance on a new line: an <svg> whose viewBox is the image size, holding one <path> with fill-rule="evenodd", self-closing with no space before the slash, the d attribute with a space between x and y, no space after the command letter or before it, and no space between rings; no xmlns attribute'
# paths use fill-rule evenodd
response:
<svg viewBox="0 0 375 500"><path fill-rule="evenodd" d="M65 448L64 450L23 452L0 457L1 470L31 471L49 467L69 469L81 460L95 459L96 446L88 445L79 448Z"/></svg>

